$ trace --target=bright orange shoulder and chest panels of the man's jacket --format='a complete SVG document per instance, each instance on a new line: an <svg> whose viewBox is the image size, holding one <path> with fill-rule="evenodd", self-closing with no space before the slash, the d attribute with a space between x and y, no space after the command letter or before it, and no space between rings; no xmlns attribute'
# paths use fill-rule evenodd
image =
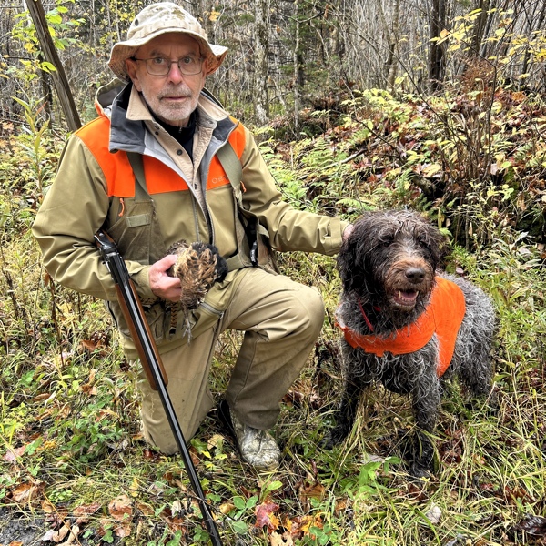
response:
<svg viewBox="0 0 546 546"><path fill-rule="evenodd" d="M112 153L108 149L110 120L99 116L76 131L89 148L106 177L108 197L135 197L135 176L125 151ZM229 142L238 157L245 148L245 131L241 124L229 136ZM188 190L186 181L155 157L144 156L144 176L150 195ZM226 172L215 156L208 168L207 189L229 184Z"/></svg>

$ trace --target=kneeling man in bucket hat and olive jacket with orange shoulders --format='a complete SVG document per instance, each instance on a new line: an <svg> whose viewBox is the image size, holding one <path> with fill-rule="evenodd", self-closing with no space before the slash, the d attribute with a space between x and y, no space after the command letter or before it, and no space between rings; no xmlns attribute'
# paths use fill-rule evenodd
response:
<svg viewBox="0 0 546 546"><path fill-rule="evenodd" d="M111 105L104 98L114 96L111 89L99 91L99 116L68 139L33 230L51 276L106 299L126 355L136 360L93 236L103 228L116 240L186 439L214 404L207 375L217 335L245 331L221 409L243 460L274 469L280 452L268 429L319 336L324 308L316 289L275 271L268 248L333 255L347 224L281 200L248 129L204 91L226 53L176 4L148 5L136 15L108 63L124 86ZM240 185L230 183L223 148L236 157ZM189 331L173 310L180 280L167 275L176 261L167 248L180 239L215 245L229 266L191 313ZM258 258L249 250L255 245ZM144 376L139 386L145 439L175 452L157 393Z"/></svg>

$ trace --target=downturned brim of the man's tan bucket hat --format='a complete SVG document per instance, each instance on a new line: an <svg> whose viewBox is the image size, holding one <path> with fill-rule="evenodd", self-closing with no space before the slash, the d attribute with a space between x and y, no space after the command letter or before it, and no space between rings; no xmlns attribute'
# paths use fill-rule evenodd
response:
<svg viewBox="0 0 546 546"><path fill-rule="evenodd" d="M177 33L183 35L189 35L199 44L201 53L207 59L207 72L205 76L209 76L213 72L216 72L219 66L224 62L224 59L227 55L227 47L223 45L209 44L207 40L203 39L202 36L191 31L181 31L179 28L160 28L156 32L150 33L146 38L126 40L125 42L117 42L117 44L112 47L112 52L110 53L110 59L108 61L108 66L110 70L121 80L129 81L129 75L127 74L126 69L126 59L135 56L136 50L142 45L147 44L150 40L153 40L158 35L164 35L168 33Z"/></svg>

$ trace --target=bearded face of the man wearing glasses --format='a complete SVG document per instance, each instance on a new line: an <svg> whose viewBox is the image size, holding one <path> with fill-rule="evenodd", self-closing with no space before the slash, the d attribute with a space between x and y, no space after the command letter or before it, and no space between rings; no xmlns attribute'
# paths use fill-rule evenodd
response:
<svg viewBox="0 0 546 546"><path fill-rule="evenodd" d="M139 47L135 54L138 59L164 57L169 61L186 56L199 58L199 45L192 37L179 33L159 35ZM192 76L182 74L176 63L170 65L167 76L152 76L147 73L145 62L126 60L127 72L149 108L172 126L187 126L190 114L197 108L199 93L205 86L206 63L203 61L201 72Z"/></svg>

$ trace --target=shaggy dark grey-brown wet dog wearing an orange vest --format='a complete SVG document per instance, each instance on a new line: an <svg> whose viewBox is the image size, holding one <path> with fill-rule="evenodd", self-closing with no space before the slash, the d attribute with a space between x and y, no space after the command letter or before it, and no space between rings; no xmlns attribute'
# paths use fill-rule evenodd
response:
<svg viewBox="0 0 546 546"><path fill-rule="evenodd" d="M445 239L416 212L365 213L339 251L343 392L326 446L349 434L365 389L380 383L410 395L417 424L410 474L432 470L444 381L457 376L476 396L490 393L495 311L463 278L440 272Z"/></svg>

